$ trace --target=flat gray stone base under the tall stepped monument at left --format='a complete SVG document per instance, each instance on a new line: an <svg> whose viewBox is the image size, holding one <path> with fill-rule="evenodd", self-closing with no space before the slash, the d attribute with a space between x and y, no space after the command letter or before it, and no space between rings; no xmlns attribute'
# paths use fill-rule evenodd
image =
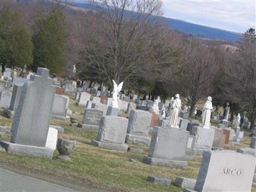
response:
<svg viewBox="0 0 256 192"><path fill-rule="evenodd" d="M47 147L37 147L32 145L20 145L10 143L7 141L0 141L1 147L5 148L6 152L10 154L19 154L29 157L42 157L52 159L53 150Z"/></svg>

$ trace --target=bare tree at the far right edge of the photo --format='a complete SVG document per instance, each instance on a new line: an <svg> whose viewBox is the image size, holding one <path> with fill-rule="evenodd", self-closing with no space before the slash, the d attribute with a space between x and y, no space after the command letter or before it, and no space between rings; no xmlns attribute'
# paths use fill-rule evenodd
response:
<svg viewBox="0 0 256 192"><path fill-rule="evenodd" d="M255 29L244 33L239 51L234 52L232 65L225 70L227 81L223 93L249 114L253 129L256 118L256 35Z"/></svg>

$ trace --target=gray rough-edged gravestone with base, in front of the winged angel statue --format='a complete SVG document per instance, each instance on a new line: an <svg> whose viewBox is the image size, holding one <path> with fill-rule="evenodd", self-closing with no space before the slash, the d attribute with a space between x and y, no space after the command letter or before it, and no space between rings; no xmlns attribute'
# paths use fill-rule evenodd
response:
<svg viewBox="0 0 256 192"><path fill-rule="evenodd" d="M125 142L127 118L120 116L103 116L100 120L97 140L92 140L92 145L112 150L127 151Z"/></svg>

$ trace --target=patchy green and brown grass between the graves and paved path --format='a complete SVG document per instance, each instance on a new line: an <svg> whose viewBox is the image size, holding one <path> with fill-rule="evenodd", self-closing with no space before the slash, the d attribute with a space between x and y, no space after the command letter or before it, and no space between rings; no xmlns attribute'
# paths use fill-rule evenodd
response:
<svg viewBox="0 0 256 192"><path fill-rule="evenodd" d="M70 98L70 109L72 117L78 118L81 122L84 109L75 105L74 99ZM77 112L77 113L74 113ZM0 111L0 124L10 129L12 120L3 116L3 109ZM142 163L143 156L147 156L148 148L138 145L129 147L143 148L142 154L135 152L117 152L104 148L94 147L92 140L97 138L96 131L81 129L69 125L70 122L52 119L51 125L60 125L65 129L59 133L59 137L76 140L76 148L70 155L72 162L59 161L56 159L58 151L52 159L41 159L26 157L6 152L0 152L0 165L2 168L14 170L24 175L32 175L38 179L46 180L62 186L70 187L78 191L182 191L173 185L177 176L196 179L200 168L201 157L196 156L195 161L188 161L186 169L170 168L165 166L154 166ZM4 140L10 141L10 134L6 133ZM250 137L244 136L239 145L232 147L248 147ZM136 159L133 163L129 159ZM167 177L172 180L170 186L163 186L147 182L148 175ZM63 182L65 181L65 182ZM256 184L253 183L253 191L256 191Z"/></svg>

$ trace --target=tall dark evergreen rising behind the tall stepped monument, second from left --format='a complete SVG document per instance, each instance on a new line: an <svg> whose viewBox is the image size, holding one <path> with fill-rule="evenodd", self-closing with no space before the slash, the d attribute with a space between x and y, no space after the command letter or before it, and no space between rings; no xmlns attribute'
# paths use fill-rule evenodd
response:
<svg viewBox="0 0 256 192"><path fill-rule="evenodd" d="M66 48L65 16L53 8L46 16L40 15L33 26L32 41L34 44L32 69L49 68L52 73L63 69L63 52Z"/></svg>

